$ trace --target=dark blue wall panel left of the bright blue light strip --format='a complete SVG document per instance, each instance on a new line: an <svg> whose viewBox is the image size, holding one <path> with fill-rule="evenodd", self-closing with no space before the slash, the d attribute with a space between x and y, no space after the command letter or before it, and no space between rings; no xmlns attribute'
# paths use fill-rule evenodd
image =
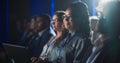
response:
<svg viewBox="0 0 120 63"><path fill-rule="evenodd" d="M51 11L52 0L29 0L30 1L30 16L48 13Z"/></svg>

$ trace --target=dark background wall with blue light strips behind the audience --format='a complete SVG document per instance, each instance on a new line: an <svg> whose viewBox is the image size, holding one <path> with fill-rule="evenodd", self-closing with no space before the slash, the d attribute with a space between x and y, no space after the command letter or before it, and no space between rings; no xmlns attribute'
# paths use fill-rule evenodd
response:
<svg viewBox="0 0 120 63"><path fill-rule="evenodd" d="M28 16L65 10L72 0L0 0L0 44L17 41L15 22ZM96 15L96 0L82 0L89 7L90 16Z"/></svg>

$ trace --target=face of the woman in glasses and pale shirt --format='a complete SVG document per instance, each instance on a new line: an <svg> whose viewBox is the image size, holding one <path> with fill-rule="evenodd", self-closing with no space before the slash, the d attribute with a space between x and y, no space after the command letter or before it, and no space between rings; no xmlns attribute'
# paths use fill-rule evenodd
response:
<svg viewBox="0 0 120 63"><path fill-rule="evenodd" d="M62 27L62 22L59 21L57 15L54 15L54 16L53 16L51 23L52 23L53 29L54 29L55 31L61 31L61 30L62 30L62 28L63 28L63 27Z"/></svg>

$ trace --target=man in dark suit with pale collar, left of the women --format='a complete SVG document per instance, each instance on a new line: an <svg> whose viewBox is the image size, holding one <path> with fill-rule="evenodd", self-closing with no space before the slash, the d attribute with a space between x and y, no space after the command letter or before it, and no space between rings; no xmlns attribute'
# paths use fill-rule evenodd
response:
<svg viewBox="0 0 120 63"><path fill-rule="evenodd" d="M28 46L28 53L30 57L39 57L43 46L51 38L50 33L50 17L47 14L41 14L36 17L37 34L31 39Z"/></svg>

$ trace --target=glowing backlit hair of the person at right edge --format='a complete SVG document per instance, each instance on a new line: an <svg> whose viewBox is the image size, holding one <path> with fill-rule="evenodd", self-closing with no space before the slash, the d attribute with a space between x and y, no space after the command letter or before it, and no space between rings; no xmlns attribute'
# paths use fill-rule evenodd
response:
<svg viewBox="0 0 120 63"><path fill-rule="evenodd" d="M107 36L120 35L120 1L108 1L102 7L98 31Z"/></svg>

